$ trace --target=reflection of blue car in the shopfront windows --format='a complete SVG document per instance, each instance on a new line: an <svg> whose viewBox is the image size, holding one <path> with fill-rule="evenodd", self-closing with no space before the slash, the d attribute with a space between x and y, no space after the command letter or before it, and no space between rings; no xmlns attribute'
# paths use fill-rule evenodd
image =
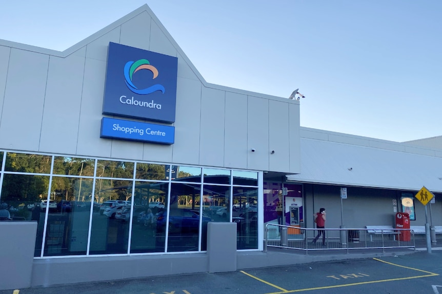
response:
<svg viewBox="0 0 442 294"><path fill-rule="evenodd" d="M164 232L166 228L166 211L160 211L156 214L156 230ZM203 214L203 228L207 223L213 221L210 217ZM169 217L169 233L198 233L199 230L199 211L189 209L172 210Z"/></svg>

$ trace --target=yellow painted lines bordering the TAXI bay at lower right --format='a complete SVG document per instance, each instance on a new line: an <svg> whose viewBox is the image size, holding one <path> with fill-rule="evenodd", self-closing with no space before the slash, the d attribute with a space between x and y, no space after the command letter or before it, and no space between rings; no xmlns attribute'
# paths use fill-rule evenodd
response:
<svg viewBox="0 0 442 294"><path fill-rule="evenodd" d="M321 289L331 289L331 288L339 288L339 287L348 287L348 286L356 286L356 285L365 285L365 284L374 284L374 283L382 283L382 282L391 282L391 281L401 281L401 280L410 280L410 279L417 279L417 278L426 278L426 277L434 277L434 276L439 276L439 274L435 274L435 273L431 273L431 272L427 272L426 270L422 270L422 269L418 269L418 268L413 268L413 267L408 267L408 266L404 266L404 265L399 265L399 264L395 264L395 263L391 263L391 262L387 262L384 260L380 260L377 258L373 258L374 260L380 261L380 262L384 262L390 265L395 265L395 266L399 266L399 267L403 267L403 268L408 268L408 269L412 269L412 270L417 270L418 272L423 272L426 273L428 275L424 275L424 276L414 276L414 277L406 277L406 278L395 278L395 279L386 279L386 280L377 280L377 281L368 281L368 282L359 282L359 283L351 283L351 284L343 284L343 285L333 285L333 286L324 286L324 287L315 287L315 288L305 288L305 289L296 289L296 290L286 290L283 288L280 288L278 286L275 286L271 283L268 283L266 281L260 280L252 275L249 275L243 271L241 271L243 274L246 274L258 281L264 282L268 285L271 285L273 287L276 287L280 290L282 290L282 292L271 292L271 293L266 293L266 294L285 294L285 293L294 293L294 292L303 292L303 291L311 291L311 290L321 290Z"/></svg>

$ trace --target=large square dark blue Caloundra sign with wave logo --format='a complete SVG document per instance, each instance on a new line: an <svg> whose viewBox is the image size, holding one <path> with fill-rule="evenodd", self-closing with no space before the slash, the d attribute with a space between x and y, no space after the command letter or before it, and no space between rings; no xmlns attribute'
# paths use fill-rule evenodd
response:
<svg viewBox="0 0 442 294"><path fill-rule="evenodd" d="M109 43L103 114L175 122L178 59Z"/></svg>

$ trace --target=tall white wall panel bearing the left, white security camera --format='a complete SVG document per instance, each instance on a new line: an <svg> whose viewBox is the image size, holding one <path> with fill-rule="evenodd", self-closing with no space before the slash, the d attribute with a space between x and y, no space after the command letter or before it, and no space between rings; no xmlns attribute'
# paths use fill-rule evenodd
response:
<svg viewBox="0 0 442 294"><path fill-rule="evenodd" d="M247 119L247 167L269 170L269 100L248 96Z"/></svg>

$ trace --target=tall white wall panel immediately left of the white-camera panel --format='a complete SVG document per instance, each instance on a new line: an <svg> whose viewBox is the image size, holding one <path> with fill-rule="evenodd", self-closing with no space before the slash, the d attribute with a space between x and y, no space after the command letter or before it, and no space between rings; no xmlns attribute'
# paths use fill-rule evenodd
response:
<svg viewBox="0 0 442 294"><path fill-rule="evenodd" d="M224 166L247 169L247 96L226 92Z"/></svg>

